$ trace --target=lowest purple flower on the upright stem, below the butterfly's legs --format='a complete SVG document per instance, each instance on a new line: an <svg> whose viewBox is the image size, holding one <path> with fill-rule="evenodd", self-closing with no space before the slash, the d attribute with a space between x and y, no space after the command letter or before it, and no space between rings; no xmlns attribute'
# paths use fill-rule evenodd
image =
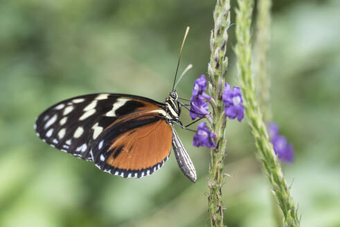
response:
<svg viewBox="0 0 340 227"><path fill-rule="evenodd" d="M194 136L193 145L196 147L216 147L214 138L216 138L216 135L206 127L206 122L200 122Z"/></svg>

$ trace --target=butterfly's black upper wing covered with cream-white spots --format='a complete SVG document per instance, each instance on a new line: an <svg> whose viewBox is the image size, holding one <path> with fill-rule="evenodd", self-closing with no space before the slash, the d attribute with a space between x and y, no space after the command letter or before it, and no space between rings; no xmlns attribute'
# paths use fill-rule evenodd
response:
<svg viewBox="0 0 340 227"><path fill-rule="evenodd" d="M70 98L44 111L35 122L37 136L64 152L92 160L96 138L122 116L161 110L163 104L123 94L97 93Z"/></svg>

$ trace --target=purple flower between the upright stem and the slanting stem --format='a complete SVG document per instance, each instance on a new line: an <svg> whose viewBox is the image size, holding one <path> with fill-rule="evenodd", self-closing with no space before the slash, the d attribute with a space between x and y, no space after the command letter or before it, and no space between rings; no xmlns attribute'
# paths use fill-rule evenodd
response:
<svg viewBox="0 0 340 227"><path fill-rule="evenodd" d="M233 91L231 91L231 87L226 83L222 99L224 105L226 105L226 108L224 108L226 116L231 119L238 117L238 121L241 122L244 117L241 89L239 87L233 87Z"/></svg>

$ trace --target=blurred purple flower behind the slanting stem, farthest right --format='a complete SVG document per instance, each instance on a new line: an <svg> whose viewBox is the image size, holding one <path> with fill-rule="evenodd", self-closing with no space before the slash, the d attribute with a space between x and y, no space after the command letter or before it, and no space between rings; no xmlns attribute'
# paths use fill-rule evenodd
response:
<svg viewBox="0 0 340 227"><path fill-rule="evenodd" d="M273 144L274 152L281 161L292 163L294 161L294 149L291 143L288 143L285 136L280 136L278 125L274 122L269 124L270 141Z"/></svg>

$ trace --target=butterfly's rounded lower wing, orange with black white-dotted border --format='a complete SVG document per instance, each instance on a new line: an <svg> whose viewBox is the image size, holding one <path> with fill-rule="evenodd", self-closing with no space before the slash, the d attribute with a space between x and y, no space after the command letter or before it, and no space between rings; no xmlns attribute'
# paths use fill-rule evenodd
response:
<svg viewBox="0 0 340 227"><path fill-rule="evenodd" d="M170 155L172 127L158 113L132 114L114 122L93 143L100 170L142 177L158 170Z"/></svg>

